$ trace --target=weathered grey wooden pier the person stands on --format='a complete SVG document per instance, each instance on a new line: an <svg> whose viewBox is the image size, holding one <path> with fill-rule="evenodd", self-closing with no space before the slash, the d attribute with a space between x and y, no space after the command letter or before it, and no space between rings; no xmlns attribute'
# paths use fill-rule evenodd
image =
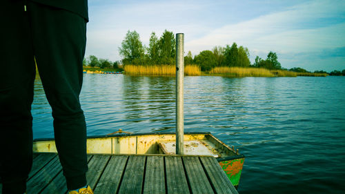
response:
<svg viewBox="0 0 345 194"><path fill-rule="evenodd" d="M88 184L96 194L237 193L215 157L88 155L88 166ZM34 154L27 185L28 194L67 193L57 154Z"/></svg>

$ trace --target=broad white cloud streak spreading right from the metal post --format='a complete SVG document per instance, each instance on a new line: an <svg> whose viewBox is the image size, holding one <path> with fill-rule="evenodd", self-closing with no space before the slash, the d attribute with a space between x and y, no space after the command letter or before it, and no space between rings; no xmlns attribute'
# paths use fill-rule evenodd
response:
<svg viewBox="0 0 345 194"><path fill-rule="evenodd" d="M283 12L223 26L200 39L188 41L186 47L199 52L235 41L251 50L305 52L345 46L345 22L335 25L317 23L318 19L335 17L339 10L344 12L345 3L340 4L334 5L329 1L304 3Z"/></svg>

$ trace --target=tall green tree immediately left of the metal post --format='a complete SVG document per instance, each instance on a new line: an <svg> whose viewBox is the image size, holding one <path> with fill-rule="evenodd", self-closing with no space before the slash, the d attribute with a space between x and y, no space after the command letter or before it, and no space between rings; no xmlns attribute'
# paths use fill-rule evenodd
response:
<svg viewBox="0 0 345 194"><path fill-rule="evenodd" d="M176 40L174 34L165 30L159 39L159 59L161 64L175 64Z"/></svg>

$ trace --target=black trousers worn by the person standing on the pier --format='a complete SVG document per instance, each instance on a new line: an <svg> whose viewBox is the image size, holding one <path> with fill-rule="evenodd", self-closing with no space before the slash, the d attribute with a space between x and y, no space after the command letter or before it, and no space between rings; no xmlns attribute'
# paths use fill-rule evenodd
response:
<svg viewBox="0 0 345 194"><path fill-rule="evenodd" d="M24 8L26 6L26 9ZM23 0L0 6L0 176L3 193L23 193L32 166L35 62L52 107L55 142L69 189L86 185L86 123L79 103L86 21ZM39 191L37 191L39 192Z"/></svg>

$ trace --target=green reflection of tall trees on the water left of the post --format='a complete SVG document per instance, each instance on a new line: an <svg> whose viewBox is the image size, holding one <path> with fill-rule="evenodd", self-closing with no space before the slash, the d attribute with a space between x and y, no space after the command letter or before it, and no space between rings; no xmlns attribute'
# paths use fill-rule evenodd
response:
<svg viewBox="0 0 345 194"><path fill-rule="evenodd" d="M174 129L175 77L124 76L124 114L151 131Z"/></svg>

